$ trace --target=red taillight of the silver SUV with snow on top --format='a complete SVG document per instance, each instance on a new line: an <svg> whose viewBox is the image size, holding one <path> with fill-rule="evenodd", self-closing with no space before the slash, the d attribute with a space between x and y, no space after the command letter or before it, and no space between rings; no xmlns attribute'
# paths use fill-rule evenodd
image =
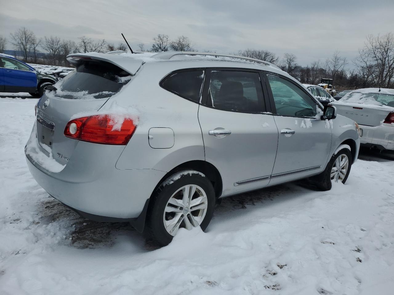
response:
<svg viewBox="0 0 394 295"><path fill-rule="evenodd" d="M94 115L71 120L64 129L64 135L98 144L125 145L136 128L137 125L128 118L118 124L110 115Z"/></svg>

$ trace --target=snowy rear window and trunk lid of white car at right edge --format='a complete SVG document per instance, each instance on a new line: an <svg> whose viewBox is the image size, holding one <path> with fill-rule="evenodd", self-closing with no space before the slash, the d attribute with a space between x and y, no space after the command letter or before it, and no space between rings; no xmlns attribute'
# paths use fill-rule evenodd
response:
<svg viewBox="0 0 394 295"><path fill-rule="evenodd" d="M338 102L333 102L338 114L346 116L358 124L379 126L394 111L390 101L394 95L379 93L350 92Z"/></svg>

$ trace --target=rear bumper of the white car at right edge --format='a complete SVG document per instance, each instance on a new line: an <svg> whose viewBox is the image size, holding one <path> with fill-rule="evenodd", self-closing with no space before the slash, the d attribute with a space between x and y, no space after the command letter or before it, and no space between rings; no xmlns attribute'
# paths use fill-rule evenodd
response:
<svg viewBox="0 0 394 295"><path fill-rule="evenodd" d="M393 126L392 126L393 125ZM394 124L379 126L359 125L362 129L361 144L394 150Z"/></svg>

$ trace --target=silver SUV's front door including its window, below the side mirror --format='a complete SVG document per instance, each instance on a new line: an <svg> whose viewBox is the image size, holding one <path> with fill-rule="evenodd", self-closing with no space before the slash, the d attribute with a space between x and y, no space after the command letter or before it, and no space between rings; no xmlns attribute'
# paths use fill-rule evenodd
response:
<svg viewBox="0 0 394 295"><path fill-rule="evenodd" d="M317 115L318 105L309 92L277 74L267 74L278 150L271 175L272 184L314 175L325 168L331 149L331 129Z"/></svg>

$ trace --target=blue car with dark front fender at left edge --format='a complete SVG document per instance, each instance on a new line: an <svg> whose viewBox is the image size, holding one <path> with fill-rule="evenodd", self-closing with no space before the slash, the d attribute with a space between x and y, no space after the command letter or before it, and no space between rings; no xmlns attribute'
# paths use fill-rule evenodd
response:
<svg viewBox="0 0 394 295"><path fill-rule="evenodd" d="M57 81L11 55L0 53L0 92L28 92L41 97Z"/></svg>

